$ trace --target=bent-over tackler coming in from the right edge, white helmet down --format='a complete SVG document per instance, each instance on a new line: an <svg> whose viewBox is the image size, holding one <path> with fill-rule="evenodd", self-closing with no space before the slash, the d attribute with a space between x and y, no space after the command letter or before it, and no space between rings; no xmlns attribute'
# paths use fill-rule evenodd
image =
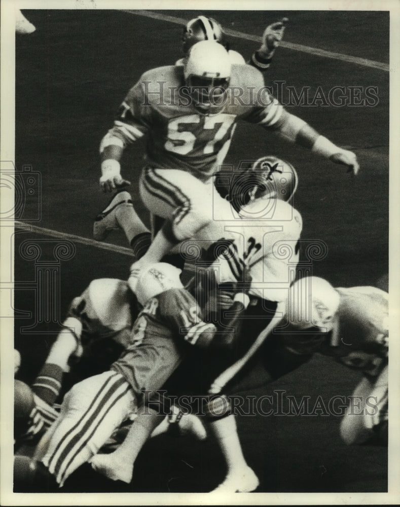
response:
<svg viewBox="0 0 400 507"><path fill-rule="evenodd" d="M358 370L362 379L346 409L340 433L348 445L387 445L388 294L372 286L337 287L319 277L298 279L289 291L286 311L274 329L282 353L304 361L319 352ZM223 373L213 385L219 392L230 378ZM359 406L353 406L357 399Z"/></svg>

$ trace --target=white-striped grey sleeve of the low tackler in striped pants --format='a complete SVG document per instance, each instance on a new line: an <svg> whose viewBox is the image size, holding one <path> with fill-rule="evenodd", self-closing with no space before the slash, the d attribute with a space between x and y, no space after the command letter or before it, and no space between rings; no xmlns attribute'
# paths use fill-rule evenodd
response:
<svg viewBox="0 0 400 507"><path fill-rule="evenodd" d="M172 289L161 295L160 310L180 339L200 348L207 348L215 335L215 325L204 322L195 298L186 289Z"/></svg>

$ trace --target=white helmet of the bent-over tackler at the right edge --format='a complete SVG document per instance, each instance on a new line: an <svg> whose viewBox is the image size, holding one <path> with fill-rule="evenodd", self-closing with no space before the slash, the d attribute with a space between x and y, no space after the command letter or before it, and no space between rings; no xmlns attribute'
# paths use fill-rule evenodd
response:
<svg viewBox="0 0 400 507"><path fill-rule="evenodd" d="M312 327L329 332L340 304L339 293L323 278L299 278L289 289L286 314L289 322L300 330Z"/></svg>

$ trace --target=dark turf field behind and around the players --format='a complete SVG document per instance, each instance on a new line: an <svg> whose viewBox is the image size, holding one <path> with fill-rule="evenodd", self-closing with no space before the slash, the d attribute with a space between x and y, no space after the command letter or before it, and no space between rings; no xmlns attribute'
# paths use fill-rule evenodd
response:
<svg viewBox="0 0 400 507"><path fill-rule="evenodd" d="M191 19L195 11L160 11ZM98 145L130 86L151 67L173 64L180 55L181 28L169 22L118 11L24 11L37 31L16 41L16 165L28 164L41 175L41 220L35 225L91 238L92 220L107 198L99 191ZM286 15L285 40L328 51L388 62L387 12L247 12L209 11L224 26L261 35L265 26ZM255 45L231 38L245 58ZM267 153L289 159L300 175L295 206L304 220L303 238L328 244L328 255L314 264L314 274L337 286L375 284L388 270L388 73L361 65L280 48L269 80L282 80L298 91L318 86L376 86L375 107L290 107L331 140L353 149L362 171L357 178L345 169L277 141L257 127L239 125L228 163ZM141 167L142 145L126 154L123 173ZM21 221L38 209L37 196L26 197ZM137 203L139 212L143 211ZM23 260L25 240L50 239L16 230L15 280L35 279L33 261ZM110 242L126 246L122 234ZM54 240L53 240L54 241ZM42 260L51 258L54 243L41 243ZM50 257L49 257L50 256ZM72 259L60 263L61 319L72 297L90 280L126 278L131 259L95 246L76 244ZM34 324L34 291L15 291L15 308L30 312L15 320L15 344L22 354L19 378L31 381L54 340L57 324L39 323L37 334L23 332ZM58 303L57 303L58 304ZM32 331L32 330L31 330ZM327 358L311 363L247 394L317 396L328 404L334 395L348 396L358 374ZM262 492L370 492L387 490L387 449L347 448L339 438L339 418L241 417L240 437ZM90 471L75 474L64 491L209 491L224 477L215 443L164 437L139 455L131 485L99 480Z"/></svg>

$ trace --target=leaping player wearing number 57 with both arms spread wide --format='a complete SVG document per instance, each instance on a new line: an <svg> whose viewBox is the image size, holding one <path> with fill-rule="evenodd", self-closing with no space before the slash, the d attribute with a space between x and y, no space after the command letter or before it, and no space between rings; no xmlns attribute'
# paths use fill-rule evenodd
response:
<svg viewBox="0 0 400 507"><path fill-rule="evenodd" d="M165 83L162 99L160 75ZM100 185L113 190L124 183L120 160L126 146L147 135L140 195L151 213L167 220L135 270L158 262L174 245L192 238L213 220L217 200L210 190L213 175L225 159L238 120L259 124L346 165L353 173L358 171L352 152L338 148L284 110L266 90L257 69L231 65L220 44L198 42L184 67L161 67L139 79L101 142Z"/></svg>

